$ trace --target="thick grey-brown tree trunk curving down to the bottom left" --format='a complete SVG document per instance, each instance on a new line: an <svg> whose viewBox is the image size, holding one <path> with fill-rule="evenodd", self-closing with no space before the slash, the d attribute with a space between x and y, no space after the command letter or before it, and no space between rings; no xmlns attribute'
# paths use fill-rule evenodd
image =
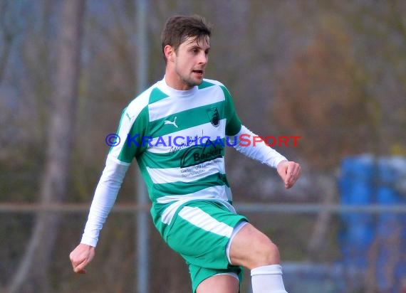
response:
<svg viewBox="0 0 406 293"><path fill-rule="evenodd" d="M78 96L84 9L85 0L63 1L56 90L51 106L53 111L40 190L40 201L44 206L61 202L66 196ZM24 257L9 284L10 293L51 292L47 271L52 261L51 252L59 223L60 216L56 213L38 213Z"/></svg>

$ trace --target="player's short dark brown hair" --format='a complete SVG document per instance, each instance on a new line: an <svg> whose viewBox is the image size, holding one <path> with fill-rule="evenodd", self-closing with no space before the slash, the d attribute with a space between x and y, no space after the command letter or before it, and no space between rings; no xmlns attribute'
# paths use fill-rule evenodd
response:
<svg viewBox="0 0 406 293"><path fill-rule="evenodd" d="M212 25L207 23L202 16L176 15L170 17L165 23L161 35L162 53L164 54L165 63L167 62L165 46L170 45L177 51L180 44L187 38L195 37L197 41L200 41L205 36L210 37L211 35Z"/></svg>

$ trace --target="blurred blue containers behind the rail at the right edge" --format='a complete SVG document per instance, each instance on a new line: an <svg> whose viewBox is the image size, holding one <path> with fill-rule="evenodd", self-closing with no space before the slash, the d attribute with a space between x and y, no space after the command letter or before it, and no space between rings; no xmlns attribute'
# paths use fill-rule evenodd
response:
<svg viewBox="0 0 406 293"><path fill-rule="evenodd" d="M345 158L338 182L340 202L345 205L406 205L406 188L398 187L406 186L405 181L405 157ZM400 292L402 279L406 280L406 215L348 213L341 219L343 228L339 241L345 267L355 272L375 267L380 292Z"/></svg>

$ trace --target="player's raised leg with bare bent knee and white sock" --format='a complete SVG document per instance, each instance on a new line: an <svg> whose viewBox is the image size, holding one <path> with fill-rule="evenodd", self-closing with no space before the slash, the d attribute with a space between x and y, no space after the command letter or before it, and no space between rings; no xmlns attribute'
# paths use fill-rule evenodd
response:
<svg viewBox="0 0 406 293"><path fill-rule="evenodd" d="M251 270L253 293L286 293L278 247L253 225L248 223L236 233L229 257L232 265Z"/></svg>

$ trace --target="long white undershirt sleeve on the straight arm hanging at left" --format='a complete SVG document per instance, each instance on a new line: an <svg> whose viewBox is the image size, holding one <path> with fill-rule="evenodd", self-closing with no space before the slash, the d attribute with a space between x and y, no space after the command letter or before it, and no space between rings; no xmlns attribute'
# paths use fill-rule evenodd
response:
<svg viewBox="0 0 406 293"><path fill-rule="evenodd" d="M128 165L118 164L113 159L107 159L105 169L95 190L90 206L88 221L80 243L95 247L105 219L115 203L121 183L127 172Z"/></svg>

